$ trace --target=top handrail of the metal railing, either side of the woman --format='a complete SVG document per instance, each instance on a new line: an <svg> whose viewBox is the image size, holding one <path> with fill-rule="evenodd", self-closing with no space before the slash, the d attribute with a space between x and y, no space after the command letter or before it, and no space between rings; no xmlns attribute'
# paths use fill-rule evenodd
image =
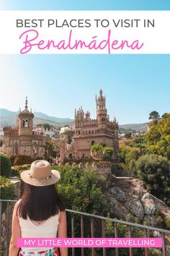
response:
<svg viewBox="0 0 170 256"><path fill-rule="evenodd" d="M17 202L17 200L0 200L0 201L2 201L2 202ZM66 209L66 211L68 213L75 213L75 214L79 214L79 215L82 215L82 216L88 216L88 217L92 217L92 218L99 218L99 219L102 219L104 221L112 221L112 222L115 222L115 223L125 224L127 226L135 226L139 229L150 229L150 230L153 230L153 231L158 231L158 232L161 232L161 233L170 234L170 231L167 230L167 229L159 229L159 228L156 228L156 227L153 227L153 226L146 226L146 225L133 223L133 222L128 222L128 221L120 221L120 220L117 220L115 218L108 218L108 217L104 217L104 216L98 216L98 215L94 215L94 214L91 214L91 213L83 213L83 212L79 212L77 210Z"/></svg>

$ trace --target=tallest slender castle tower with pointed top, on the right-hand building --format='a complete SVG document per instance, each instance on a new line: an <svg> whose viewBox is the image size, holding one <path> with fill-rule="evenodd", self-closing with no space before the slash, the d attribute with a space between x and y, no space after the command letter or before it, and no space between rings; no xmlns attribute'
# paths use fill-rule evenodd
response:
<svg viewBox="0 0 170 256"><path fill-rule="evenodd" d="M107 108L106 108L106 98L103 96L102 89L99 91L99 96L96 96L97 103L97 122L99 124L99 130L101 132L106 128L107 119Z"/></svg>

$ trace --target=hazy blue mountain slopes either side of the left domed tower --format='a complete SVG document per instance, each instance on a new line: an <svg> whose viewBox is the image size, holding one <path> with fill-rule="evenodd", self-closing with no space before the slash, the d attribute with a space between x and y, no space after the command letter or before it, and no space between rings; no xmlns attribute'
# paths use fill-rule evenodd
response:
<svg viewBox="0 0 170 256"><path fill-rule="evenodd" d="M16 118L19 111L9 111L5 108L0 108L0 117L1 117L1 127L11 126L14 127L16 124ZM63 126L66 124L73 123L73 119L70 118L59 118L55 116L48 116L41 112L34 113L34 126L37 124L45 124L48 123L50 125L56 126Z"/></svg>

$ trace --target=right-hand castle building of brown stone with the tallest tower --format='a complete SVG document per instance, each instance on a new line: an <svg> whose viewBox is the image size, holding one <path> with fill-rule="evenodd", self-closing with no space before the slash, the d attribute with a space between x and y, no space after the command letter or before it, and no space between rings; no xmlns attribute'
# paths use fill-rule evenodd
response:
<svg viewBox="0 0 170 256"><path fill-rule="evenodd" d="M91 145L100 143L114 148L115 155L119 151L118 123L115 118L109 121L106 98L102 95L102 90L99 91L99 97L96 97L96 104L97 119L91 119L89 111L84 114L82 107L75 110L73 148L76 158L90 157Z"/></svg>

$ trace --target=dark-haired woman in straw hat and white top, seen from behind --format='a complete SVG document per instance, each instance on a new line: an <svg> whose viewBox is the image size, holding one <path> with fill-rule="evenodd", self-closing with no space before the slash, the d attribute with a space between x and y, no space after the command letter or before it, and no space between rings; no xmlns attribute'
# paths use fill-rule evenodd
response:
<svg viewBox="0 0 170 256"><path fill-rule="evenodd" d="M22 171L25 182L22 198L14 206L12 238L9 256L59 255L56 248L19 248L19 237L66 237L66 210L55 190L60 179L56 170L44 160L34 161L30 170ZM61 256L68 256L67 248L60 248Z"/></svg>

